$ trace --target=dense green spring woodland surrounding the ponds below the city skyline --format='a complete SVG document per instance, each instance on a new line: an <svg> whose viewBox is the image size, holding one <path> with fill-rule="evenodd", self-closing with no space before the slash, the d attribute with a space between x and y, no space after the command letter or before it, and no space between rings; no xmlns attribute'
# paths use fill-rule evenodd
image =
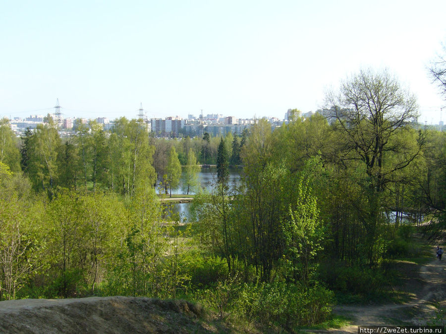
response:
<svg viewBox="0 0 446 334"><path fill-rule="evenodd" d="M352 75L326 104L240 138L155 139L126 118L61 138L51 117L16 138L1 120L0 300L184 298L292 331L346 296L387 296L412 233L445 239L446 134L418 124L386 70ZM198 164L217 165L212 191ZM236 184L229 165L243 166ZM181 174L193 223L160 201Z"/></svg>

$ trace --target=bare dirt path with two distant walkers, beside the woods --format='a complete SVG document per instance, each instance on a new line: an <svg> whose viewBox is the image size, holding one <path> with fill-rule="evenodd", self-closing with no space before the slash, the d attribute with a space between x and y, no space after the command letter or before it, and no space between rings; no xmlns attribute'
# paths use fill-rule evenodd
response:
<svg viewBox="0 0 446 334"><path fill-rule="evenodd" d="M433 251L435 254L435 251ZM334 312L353 318L352 324L330 333L358 333L358 326L415 326L425 325L435 316L438 303L446 307L446 259L436 258L419 267L419 282L416 296L406 304L370 306L338 305Z"/></svg>

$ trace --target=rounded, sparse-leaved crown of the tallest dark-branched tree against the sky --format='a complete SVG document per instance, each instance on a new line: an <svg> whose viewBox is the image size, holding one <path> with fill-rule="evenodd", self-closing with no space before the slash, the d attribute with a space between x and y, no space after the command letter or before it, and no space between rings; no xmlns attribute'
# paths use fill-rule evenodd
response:
<svg viewBox="0 0 446 334"><path fill-rule="evenodd" d="M407 152L406 158L386 165L388 152L397 152L402 145L393 146L390 140L400 131L413 130L418 118L415 96L404 90L387 70L361 70L341 83L339 94L329 93L331 117L336 119L334 130L343 135L347 160L360 159L365 163L371 186L382 191L390 176L407 167L420 152ZM420 142L421 144L421 142Z"/></svg>

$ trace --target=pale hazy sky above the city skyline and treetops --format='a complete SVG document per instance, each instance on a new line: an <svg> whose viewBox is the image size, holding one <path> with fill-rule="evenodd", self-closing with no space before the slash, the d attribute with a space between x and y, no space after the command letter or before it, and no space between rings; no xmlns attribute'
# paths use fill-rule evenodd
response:
<svg viewBox="0 0 446 334"><path fill-rule="evenodd" d="M446 106L426 67L446 1L1 1L0 116L283 118L324 105L360 68L387 67ZM446 118L446 108L443 112Z"/></svg>

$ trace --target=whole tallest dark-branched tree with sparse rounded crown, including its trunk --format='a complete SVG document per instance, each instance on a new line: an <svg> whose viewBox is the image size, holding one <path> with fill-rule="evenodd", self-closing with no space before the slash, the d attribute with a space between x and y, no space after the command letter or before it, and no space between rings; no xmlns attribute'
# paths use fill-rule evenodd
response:
<svg viewBox="0 0 446 334"><path fill-rule="evenodd" d="M422 134L416 147L398 140L403 132L414 131L416 99L387 70L368 69L341 82L338 93L327 95L327 103L338 136L334 142L339 152L337 163L342 168L364 169L366 175L358 180L366 198L361 207L367 235L364 251L373 263L385 187L396 181L424 145Z"/></svg>

